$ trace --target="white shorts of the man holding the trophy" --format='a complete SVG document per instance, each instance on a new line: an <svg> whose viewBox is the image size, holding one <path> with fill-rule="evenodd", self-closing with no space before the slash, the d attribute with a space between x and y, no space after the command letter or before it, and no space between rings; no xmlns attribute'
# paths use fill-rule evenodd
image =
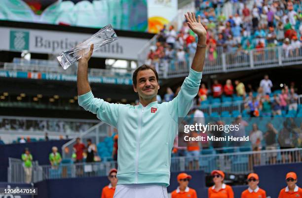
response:
<svg viewBox="0 0 302 198"><path fill-rule="evenodd" d="M168 198L167 188L152 184L119 184L113 198Z"/></svg>

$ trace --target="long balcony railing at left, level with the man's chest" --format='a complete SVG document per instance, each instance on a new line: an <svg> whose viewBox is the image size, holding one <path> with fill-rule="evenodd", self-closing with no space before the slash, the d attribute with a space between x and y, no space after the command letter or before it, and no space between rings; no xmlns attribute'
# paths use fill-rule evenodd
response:
<svg viewBox="0 0 302 198"><path fill-rule="evenodd" d="M85 132L98 120L0 116L0 132Z"/></svg>

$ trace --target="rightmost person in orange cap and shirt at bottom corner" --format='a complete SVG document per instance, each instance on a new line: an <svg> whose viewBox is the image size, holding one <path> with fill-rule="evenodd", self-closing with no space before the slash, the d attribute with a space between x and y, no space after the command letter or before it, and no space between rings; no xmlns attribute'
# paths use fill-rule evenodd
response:
<svg viewBox="0 0 302 198"><path fill-rule="evenodd" d="M287 187L282 189L278 198L302 198L302 188L297 186L297 174L289 172L286 174Z"/></svg>

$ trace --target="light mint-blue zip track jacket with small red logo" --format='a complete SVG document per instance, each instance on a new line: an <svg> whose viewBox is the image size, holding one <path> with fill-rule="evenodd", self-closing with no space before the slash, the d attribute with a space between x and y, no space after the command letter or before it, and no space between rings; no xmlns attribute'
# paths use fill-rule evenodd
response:
<svg viewBox="0 0 302 198"><path fill-rule="evenodd" d="M171 150L178 118L185 117L197 95L202 72L190 69L178 96L158 104L113 104L78 96L78 104L118 130L118 184L160 183L169 186Z"/></svg>

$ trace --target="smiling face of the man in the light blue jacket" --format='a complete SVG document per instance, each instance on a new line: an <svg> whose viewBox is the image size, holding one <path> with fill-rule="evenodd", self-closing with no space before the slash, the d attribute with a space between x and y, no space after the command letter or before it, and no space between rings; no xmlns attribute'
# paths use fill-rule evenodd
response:
<svg viewBox="0 0 302 198"><path fill-rule="evenodd" d="M156 97L159 84L155 73L151 69L140 70L137 74L137 83L133 85L134 91L138 92L143 99L152 99Z"/></svg>

